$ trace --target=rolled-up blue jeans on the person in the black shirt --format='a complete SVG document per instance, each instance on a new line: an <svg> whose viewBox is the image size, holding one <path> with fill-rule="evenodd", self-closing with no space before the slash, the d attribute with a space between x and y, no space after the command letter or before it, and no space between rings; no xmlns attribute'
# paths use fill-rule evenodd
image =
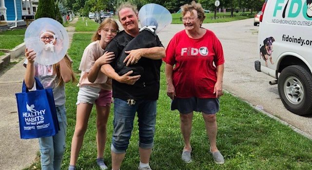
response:
<svg viewBox="0 0 312 170"><path fill-rule="evenodd" d="M137 112L139 147L150 149L154 146L154 134L156 124L156 101L140 100L129 105L121 99L114 100L114 133L111 151L114 153L125 153L131 132L133 121Z"/></svg>

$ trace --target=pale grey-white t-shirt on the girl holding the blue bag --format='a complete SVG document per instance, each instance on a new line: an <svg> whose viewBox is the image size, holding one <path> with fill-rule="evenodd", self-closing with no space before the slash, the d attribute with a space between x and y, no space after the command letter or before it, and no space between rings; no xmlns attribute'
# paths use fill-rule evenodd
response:
<svg viewBox="0 0 312 170"><path fill-rule="evenodd" d="M28 60L26 59L24 65L26 66ZM38 78L44 88L52 88L55 106L65 104L65 86L59 85L57 74L53 72L53 65L35 64L35 77Z"/></svg>

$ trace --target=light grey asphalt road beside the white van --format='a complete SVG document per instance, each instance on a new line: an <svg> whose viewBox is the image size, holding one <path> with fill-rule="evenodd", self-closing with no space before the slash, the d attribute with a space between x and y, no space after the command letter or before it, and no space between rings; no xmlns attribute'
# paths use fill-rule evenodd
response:
<svg viewBox="0 0 312 170"><path fill-rule="evenodd" d="M254 19L245 19L227 23L203 24L202 27L212 30L220 39L224 55L225 70L223 88L254 106L291 124L312 136L312 118L302 117L288 111L280 100L277 85L269 85L274 80L254 69L254 61L260 60L257 45L258 26ZM158 34L163 45L167 44L183 25L172 24Z"/></svg>

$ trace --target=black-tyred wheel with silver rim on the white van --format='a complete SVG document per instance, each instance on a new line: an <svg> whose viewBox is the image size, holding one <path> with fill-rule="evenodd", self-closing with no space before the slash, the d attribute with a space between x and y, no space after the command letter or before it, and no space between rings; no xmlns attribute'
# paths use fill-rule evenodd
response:
<svg viewBox="0 0 312 170"><path fill-rule="evenodd" d="M298 65L284 68L278 78L278 93L292 113L312 113L312 75L308 68Z"/></svg>

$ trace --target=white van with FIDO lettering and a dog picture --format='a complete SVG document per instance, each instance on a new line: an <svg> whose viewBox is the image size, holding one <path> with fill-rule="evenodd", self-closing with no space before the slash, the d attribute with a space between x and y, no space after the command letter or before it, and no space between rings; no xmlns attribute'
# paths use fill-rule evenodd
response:
<svg viewBox="0 0 312 170"><path fill-rule="evenodd" d="M285 107L312 114L312 0L266 0L258 34L257 71L277 80Z"/></svg>

